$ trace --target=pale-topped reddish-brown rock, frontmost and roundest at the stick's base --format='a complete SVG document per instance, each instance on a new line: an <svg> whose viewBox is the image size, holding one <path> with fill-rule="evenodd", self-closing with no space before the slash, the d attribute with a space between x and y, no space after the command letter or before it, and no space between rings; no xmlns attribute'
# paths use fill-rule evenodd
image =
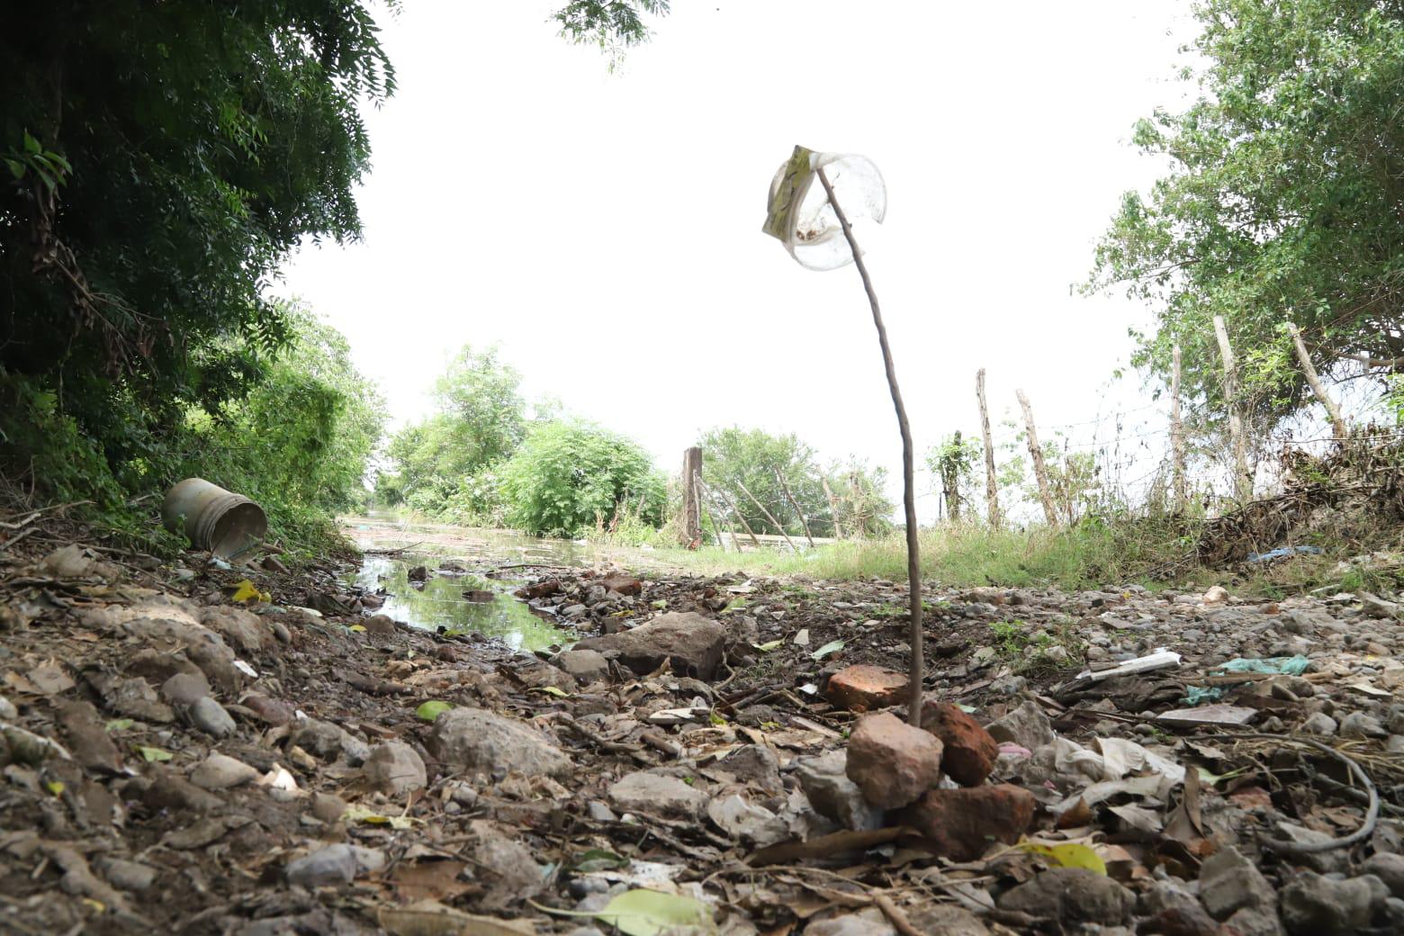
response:
<svg viewBox="0 0 1404 936"><path fill-rule="evenodd" d="M941 741L887 711L863 716L848 738L847 770L870 804L896 810L941 779Z"/></svg>

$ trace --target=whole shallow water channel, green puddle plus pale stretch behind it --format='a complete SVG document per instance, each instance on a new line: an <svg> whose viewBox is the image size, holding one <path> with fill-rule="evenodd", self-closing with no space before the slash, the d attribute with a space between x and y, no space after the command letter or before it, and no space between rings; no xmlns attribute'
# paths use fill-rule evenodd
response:
<svg viewBox="0 0 1404 936"><path fill-rule="evenodd" d="M588 546L505 530L404 523L373 514L350 518L343 529L364 550L404 550L393 556L366 551L361 568L347 578L347 584L368 592L383 589L383 615L430 630L476 631L518 650L543 650L576 640L570 627L538 616L512 596L522 580L510 575L529 574L531 568L524 567L528 563L590 563L595 556ZM449 568L442 568L445 564ZM410 570L416 566L428 570L427 581L410 581ZM503 571L508 578L482 574L512 566L517 568Z"/></svg>

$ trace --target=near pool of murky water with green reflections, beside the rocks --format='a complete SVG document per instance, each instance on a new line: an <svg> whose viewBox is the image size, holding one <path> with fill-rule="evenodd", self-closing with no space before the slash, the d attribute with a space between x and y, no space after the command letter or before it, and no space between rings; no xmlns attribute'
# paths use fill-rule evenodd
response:
<svg viewBox="0 0 1404 936"><path fill-rule="evenodd" d="M545 650L576 640L570 630L538 617L525 602L512 596L511 589L519 582L482 578L472 573L441 573L439 566L445 561L445 557L435 556L392 559L368 554L348 584L368 592L383 588L386 599L378 613L416 627L428 630L444 627L453 633L477 631L517 650ZM410 570L416 566L430 570L427 581L410 581ZM489 595L491 598L469 601L465 592L479 592L473 595L475 598Z"/></svg>

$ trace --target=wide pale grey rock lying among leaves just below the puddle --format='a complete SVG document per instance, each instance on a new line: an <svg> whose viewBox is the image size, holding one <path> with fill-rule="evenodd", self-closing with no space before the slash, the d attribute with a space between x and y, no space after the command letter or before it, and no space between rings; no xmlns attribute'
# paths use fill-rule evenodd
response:
<svg viewBox="0 0 1404 936"><path fill-rule="evenodd" d="M529 726L484 709L451 709L434 721L430 752L455 772L570 776L570 758Z"/></svg>

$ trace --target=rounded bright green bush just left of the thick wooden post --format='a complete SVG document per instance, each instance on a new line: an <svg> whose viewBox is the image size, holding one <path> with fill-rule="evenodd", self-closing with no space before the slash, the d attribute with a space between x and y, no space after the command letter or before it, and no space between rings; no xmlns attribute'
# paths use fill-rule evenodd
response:
<svg viewBox="0 0 1404 936"><path fill-rule="evenodd" d="M643 448L578 420L534 427L501 479L507 522L541 536L580 536L616 514L657 526L667 500Z"/></svg>

